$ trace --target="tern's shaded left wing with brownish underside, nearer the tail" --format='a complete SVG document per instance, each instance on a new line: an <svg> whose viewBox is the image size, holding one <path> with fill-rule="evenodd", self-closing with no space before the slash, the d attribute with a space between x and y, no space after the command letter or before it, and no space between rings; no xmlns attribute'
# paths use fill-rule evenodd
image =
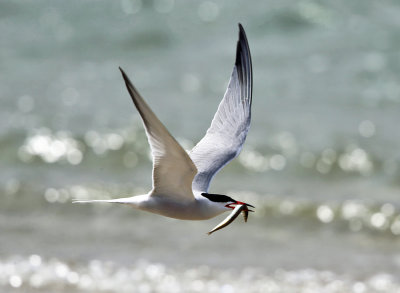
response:
<svg viewBox="0 0 400 293"><path fill-rule="evenodd" d="M120 68L133 103L142 117L153 155L152 196L174 197L179 200L194 200L192 181L196 166L186 151L153 113Z"/></svg>

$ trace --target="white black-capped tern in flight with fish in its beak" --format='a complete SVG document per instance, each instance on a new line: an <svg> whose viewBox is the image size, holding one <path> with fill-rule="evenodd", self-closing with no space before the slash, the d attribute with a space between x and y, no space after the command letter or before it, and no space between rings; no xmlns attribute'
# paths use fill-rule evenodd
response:
<svg viewBox="0 0 400 293"><path fill-rule="evenodd" d="M150 144L153 188L147 194L133 197L75 202L127 204L182 220L206 220L232 210L209 234L229 225L241 212L247 221L252 205L227 195L208 193L214 175L239 155L250 127L253 73L250 49L242 25L239 23L235 66L228 88L206 135L189 153L168 132L125 72L120 70L142 118Z"/></svg>

